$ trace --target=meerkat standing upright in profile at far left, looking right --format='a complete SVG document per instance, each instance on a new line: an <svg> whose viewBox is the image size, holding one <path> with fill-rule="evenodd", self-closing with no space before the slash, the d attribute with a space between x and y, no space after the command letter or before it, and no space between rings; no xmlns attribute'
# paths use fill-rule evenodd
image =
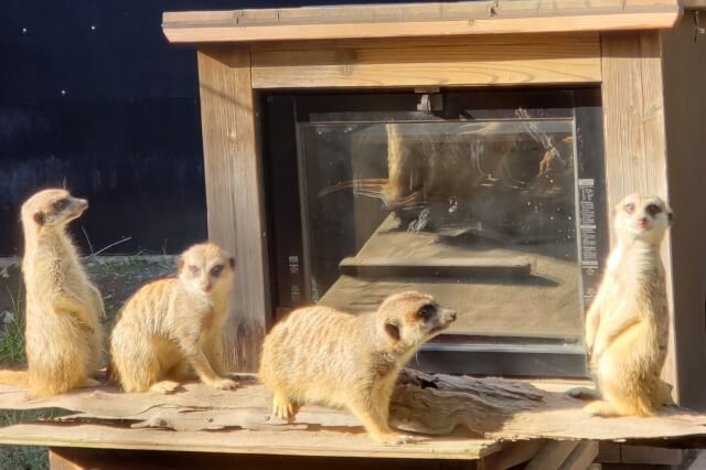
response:
<svg viewBox="0 0 706 470"><path fill-rule="evenodd" d="M28 370L0 372L0 383L26 386L31 397L98 385L89 375L103 362L103 298L66 233L87 207L63 189L40 191L22 204Z"/></svg>

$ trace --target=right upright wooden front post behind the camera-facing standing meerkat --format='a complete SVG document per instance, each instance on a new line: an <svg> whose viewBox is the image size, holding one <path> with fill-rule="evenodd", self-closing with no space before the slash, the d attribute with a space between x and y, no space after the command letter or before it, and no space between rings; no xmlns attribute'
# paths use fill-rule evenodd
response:
<svg viewBox="0 0 706 470"><path fill-rule="evenodd" d="M609 209L632 192L667 196L662 64L656 32L606 33L602 49L603 138ZM611 234L611 238L614 234ZM671 234L662 245L670 297L670 352L662 373L678 394L674 355Z"/></svg>

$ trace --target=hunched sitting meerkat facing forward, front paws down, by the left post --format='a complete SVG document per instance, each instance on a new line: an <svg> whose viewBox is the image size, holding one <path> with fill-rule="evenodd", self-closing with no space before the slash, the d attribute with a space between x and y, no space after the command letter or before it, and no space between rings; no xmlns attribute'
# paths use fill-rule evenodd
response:
<svg viewBox="0 0 706 470"><path fill-rule="evenodd" d="M235 260L212 243L178 259L178 278L142 286L122 307L110 337L113 375L126 392L173 392L193 378L234 388L226 377L223 325Z"/></svg>

